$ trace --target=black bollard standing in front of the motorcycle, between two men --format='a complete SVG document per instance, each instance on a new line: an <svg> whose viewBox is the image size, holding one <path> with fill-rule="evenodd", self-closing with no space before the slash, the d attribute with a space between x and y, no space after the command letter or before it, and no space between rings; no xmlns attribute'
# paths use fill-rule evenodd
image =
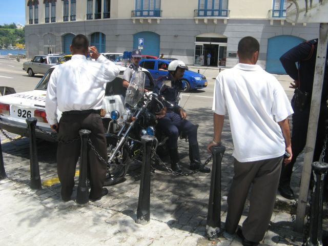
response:
<svg viewBox="0 0 328 246"><path fill-rule="evenodd" d="M144 152L142 155L137 219L135 220L138 224L147 224L150 220L150 162L151 148L154 140L155 137L150 135L144 135L141 137Z"/></svg>

